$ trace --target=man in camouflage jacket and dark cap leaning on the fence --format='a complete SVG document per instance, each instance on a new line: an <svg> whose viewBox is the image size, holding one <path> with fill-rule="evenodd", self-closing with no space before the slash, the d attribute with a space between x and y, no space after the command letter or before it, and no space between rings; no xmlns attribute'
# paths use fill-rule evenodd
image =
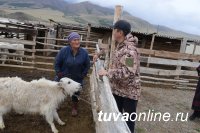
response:
<svg viewBox="0 0 200 133"><path fill-rule="evenodd" d="M114 39L117 47L112 55L112 64L108 71L99 71L99 75L108 76L119 111L130 115L136 112L141 93L138 39L133 37L131 25L125 20L119 20L115 23ZM100 53L94 55L93 61L97 60ZM131 119L135 119L135 116L132 115ZM134 133L135 122L129 119L127 125L131 133Z"/></svg>

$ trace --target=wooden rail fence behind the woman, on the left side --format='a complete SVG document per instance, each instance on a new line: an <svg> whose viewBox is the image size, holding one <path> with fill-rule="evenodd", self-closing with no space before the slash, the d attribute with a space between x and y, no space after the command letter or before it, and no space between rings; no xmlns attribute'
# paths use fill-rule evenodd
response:
<svg viewBox="0 0 200 133"><path fill-rule="evenodd" d="M54 66L55 56L62 47L66 46L66 40L56 39L56 38L45 38L45 37L37 37L37 39L56 40L60 41L61 45L39 42L36 41L36 38L34 38L33 41L0 38L0 42L8 42L11 43L10 45L24 44L24 49L9 48L11 50L24 51L24 55L16 53L0 52L0 55L7 55L9 57L6 59L6 63L5 64L0 63L0 66L27 68L27 69L42 70L42 71L54 71L53 66ZM96 43L97 42L94 41L81 41L82 47L88 50L90 56L92 56L95 52ZM38 48L36 48L36 45ZM23 60L22 61L17 60L16 58L12 57L22 57ZM0 58L0 62L4 60L5 59Z"/></svg>

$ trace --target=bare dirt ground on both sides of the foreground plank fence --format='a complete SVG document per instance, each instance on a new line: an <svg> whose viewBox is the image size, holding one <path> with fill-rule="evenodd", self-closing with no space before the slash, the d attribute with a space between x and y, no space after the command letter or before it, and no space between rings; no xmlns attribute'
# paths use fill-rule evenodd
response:
<svg viewBox="0 0 200 133"><path fill-rule="evenodd" d="M45 77L53 80L54 73L37 72L22 69L1 68L0 77L19 76L24 80L39 79ZM86 84L81 97L89 100L89 81ZM191 103L194 91L177 90L165 87L142 87L142 98L138 102L137 112L169 112L172 119L176 113L192 113ZM66 122L65 126L56 127L60 133L95 133L91 107L80 101L80 114L78 117L71 116L71 102L68 98L59 108L59 116ZM0 133L50 133L51 128L42 116L39 115L18 115L14 112L4 117L6 129ZM55 122L56 123L56 122ZM200 133L200 120L176 122L176 121L137 121L136 133Z"/></svg>

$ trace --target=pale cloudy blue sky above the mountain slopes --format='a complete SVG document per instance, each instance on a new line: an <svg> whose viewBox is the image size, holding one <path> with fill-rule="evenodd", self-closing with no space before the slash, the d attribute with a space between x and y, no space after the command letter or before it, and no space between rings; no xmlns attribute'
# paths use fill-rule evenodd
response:
<svg viewBox="0 0 200 133"><path fill-rule="evenodd" d="M69 1L69 0L66 0ZM83 2L85 0L74 0ZM104 7L122 5L125 11L155 25L200 35L200 0L87 0Z"/></svg>

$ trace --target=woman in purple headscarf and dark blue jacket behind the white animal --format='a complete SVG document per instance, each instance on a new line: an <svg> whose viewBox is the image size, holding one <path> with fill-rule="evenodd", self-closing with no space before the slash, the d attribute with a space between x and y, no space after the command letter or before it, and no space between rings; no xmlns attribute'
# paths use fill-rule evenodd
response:
<svg viewBox="0 0 200 133"><path fill-rule="evenodd" d="M90 68L90 58L88 52L80 46L80 35L72 32L68 36L69 45L63 47L55 59L55 81L63 77L83 85L83 79ZM72 96L72 116L78 114L78 98L80 92Z"/></svg>

